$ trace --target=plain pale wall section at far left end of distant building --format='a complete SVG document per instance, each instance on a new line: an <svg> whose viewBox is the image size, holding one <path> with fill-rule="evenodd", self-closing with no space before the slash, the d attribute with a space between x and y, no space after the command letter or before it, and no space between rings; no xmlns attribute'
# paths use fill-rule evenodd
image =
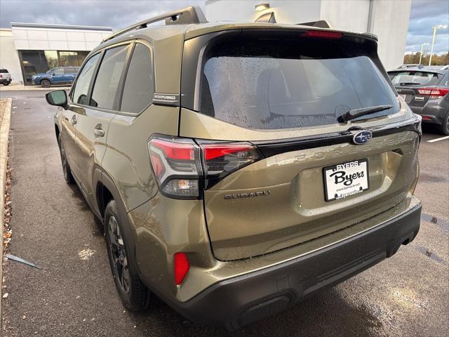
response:
<svg viewBox="0 0 449 337"><path fill-rule="evenodd" d="M6 68L13 83L22 83L19 55L15 50L11 29L0 29L0 68Z"/></svg>

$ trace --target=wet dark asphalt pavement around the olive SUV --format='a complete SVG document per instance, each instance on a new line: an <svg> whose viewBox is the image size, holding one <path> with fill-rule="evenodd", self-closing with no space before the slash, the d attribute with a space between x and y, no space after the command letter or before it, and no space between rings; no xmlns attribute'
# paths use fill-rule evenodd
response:
<svg viewBox="0 0 449 337"><path fill-rule="evenodd" d="M1 333L12 336L229 336L188 322L158 301L128 312L114 289L94 216L62 169L54 107L43 91L13 98L10 166L13 239L6 261ZM232 336L448 336L449 139L420 145L421 230L395 256L294 308ZM219 303L217 303L219 305ZM210 308L214 310L214 308Z"/></svg>

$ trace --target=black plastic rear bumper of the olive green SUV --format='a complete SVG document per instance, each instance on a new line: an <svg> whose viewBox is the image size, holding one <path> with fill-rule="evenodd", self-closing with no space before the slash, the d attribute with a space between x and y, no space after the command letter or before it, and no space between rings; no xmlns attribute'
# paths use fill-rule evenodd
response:
<svg viewBox="0 0 449 337"><path fill-rule="evenodd" d="M421 204L377 227L306 256L227 279L187 302L165 298L201 324L240 326L281 312L304 296L332 286L389 258L420 229Z"/></svg>

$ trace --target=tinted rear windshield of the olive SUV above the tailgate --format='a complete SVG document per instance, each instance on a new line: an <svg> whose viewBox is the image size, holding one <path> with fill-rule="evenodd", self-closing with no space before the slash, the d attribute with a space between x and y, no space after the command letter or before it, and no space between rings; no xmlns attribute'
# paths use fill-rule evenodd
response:
<svg viewBox="0 0 449 337"><path fill-rule="evenodd" d="M375 105L398 111L387 79L360 48L319 39L232 39L203 61L203 114L251 129L337 123L347 110ZM367 118L367 117L361 117Z"/></svg>

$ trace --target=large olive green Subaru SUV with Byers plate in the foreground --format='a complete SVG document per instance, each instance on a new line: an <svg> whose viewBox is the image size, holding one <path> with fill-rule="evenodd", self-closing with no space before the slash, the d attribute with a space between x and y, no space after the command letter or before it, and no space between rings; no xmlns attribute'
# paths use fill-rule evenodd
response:
<svg viewBox="0 0 449 337"><path fill-rule="evenodd" d="M372 34L208 23L189 7L105 39L68 95L46 97L65 179L102 220L131 310L159 296L237 329L420 228L421 119Z"/></svg>

